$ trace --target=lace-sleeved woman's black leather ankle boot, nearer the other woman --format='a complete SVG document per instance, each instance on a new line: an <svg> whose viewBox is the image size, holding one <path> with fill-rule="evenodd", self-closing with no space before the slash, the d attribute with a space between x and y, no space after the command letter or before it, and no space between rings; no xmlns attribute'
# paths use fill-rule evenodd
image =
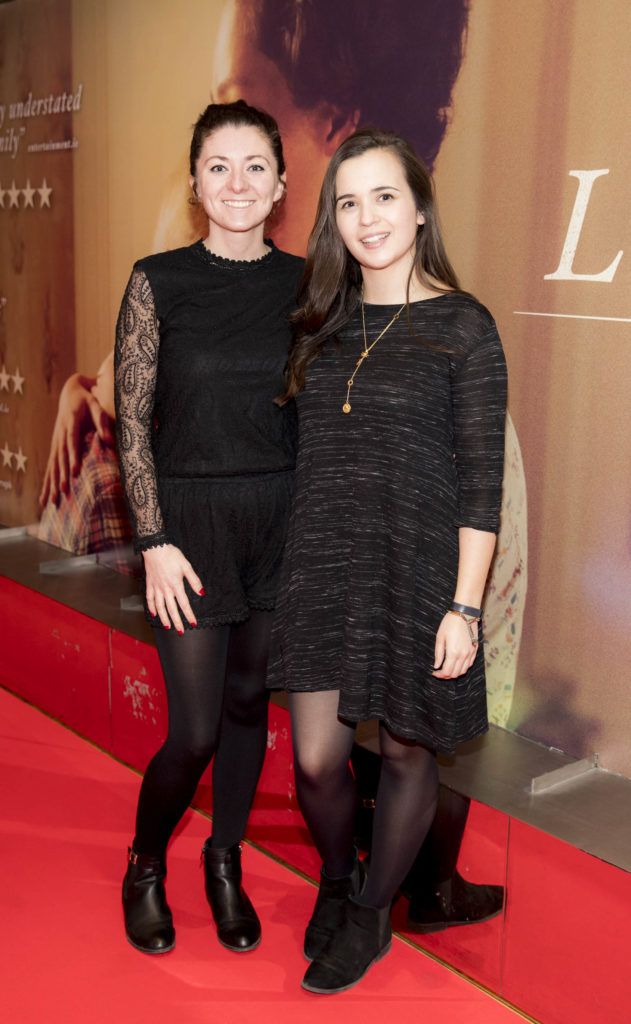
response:
<svg viewBox="0 0 631 1024"><path fill-rule="evenodd" d="M261 940L256 910L241 884L241 846L216 849L210 840L202 850L206 897L217 926L217 938L226 949L247 952Z"/></svg>

